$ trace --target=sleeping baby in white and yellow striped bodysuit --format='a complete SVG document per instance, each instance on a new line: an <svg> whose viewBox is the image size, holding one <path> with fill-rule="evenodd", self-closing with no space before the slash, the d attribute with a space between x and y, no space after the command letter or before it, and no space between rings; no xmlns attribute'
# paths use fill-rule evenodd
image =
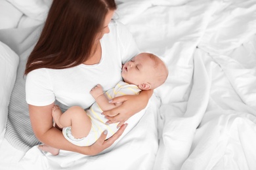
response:
<svg viewBox="0 0 256 170"><path fill-rule="evenodd" d="M140 53L123 65L121 76L123 81L106 93L103 92L100 84L91 90L90 93L96 102L89 110L74 106L62 114L60 108L54 105L53 120L58 127L63 128L62 133L68 141L78 146L90 146L103 131L105 134L108 133L106 139L114 135L124 122L108 124L108 120L101 114L104 110L121 105L121 103L109 103L109 100L119 95L136 95L141 90L158 88L165 82L168 69L165 63L154 54ZM47 145L41 145L39 148L53 155L59 152L57 148Z"/></svg>

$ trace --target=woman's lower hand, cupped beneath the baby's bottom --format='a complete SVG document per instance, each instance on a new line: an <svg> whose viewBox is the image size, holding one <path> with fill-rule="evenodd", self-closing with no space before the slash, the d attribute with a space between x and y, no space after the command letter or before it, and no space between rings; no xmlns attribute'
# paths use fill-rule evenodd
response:
<svg viewBox="0 0 256 170"><path fill-rule="evenodd" d="M123 134L123 131L125 130L127 125L128 124L123 124L118 129L118 131L112 137L108 138L107 140L105 140L105 139L106 139L106 135L108 134L108 131L104 131L94 144L92 144L91 146L87 146L87 147L89 147L90 155L93 156L93 155L99 154L104 149L110 147Z"/></svg>

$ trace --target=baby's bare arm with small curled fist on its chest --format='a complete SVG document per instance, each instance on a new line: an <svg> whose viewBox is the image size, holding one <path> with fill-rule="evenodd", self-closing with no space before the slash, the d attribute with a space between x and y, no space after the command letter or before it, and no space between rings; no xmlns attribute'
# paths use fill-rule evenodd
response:
<svg viewBox="0 0 256 170"><path fill-rule="evenodd" d="M96 103L98 103L100 109L103 111L111 110L121 105L121 103L109 103L107 97L103 93L102 86L100 86L100 84L97 84L97 86L95 86L90 93L93 95Z"/></svg>

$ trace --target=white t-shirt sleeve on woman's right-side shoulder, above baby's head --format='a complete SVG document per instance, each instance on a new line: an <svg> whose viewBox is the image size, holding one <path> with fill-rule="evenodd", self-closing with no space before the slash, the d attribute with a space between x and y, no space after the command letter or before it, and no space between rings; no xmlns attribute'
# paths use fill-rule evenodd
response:
<svg viewBox="0 0 256 170"><path fill-rule="evenodd" d="M129 61L131 58L139 54L139 48L131 32L125 27L125 25L118 23L118 37L121 42L121 48L123 48L123 55L121 56L122 63Z"/></svg>

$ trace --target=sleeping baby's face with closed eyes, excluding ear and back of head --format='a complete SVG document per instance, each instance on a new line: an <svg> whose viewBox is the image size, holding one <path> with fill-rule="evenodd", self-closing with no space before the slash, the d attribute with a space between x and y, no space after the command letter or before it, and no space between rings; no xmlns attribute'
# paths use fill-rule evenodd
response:
<svg viewBox="0 0 256 170"><path fill-rule="evenodd" d="M147 54L139 54L123 65L121 75L125 82L138 86L144 82L149 82L152 75L156 74L154 65L155 61Z"/></svg>

